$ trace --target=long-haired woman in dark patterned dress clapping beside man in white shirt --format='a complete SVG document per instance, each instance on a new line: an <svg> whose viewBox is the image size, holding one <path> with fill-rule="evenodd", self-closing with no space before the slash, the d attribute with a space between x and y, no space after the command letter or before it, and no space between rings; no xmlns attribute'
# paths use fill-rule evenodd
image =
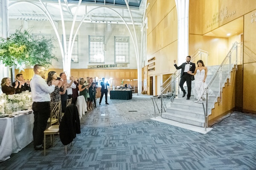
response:
<svg viewBox="0 0 256 170"><path fill-rule="evenodd" d="M52 82L57 80L58 76L55 71L48 73L47 85L51 86ZM58 85L55 86L54 91L51 93L51 102L61 101L61 94L65 94L67 89L67 83L65 81L59 81ZM62 107L61 107L62 108ZM62 113L62 111L60 112ZM61 122L62 114L59 115L59 122Z"/></svg>

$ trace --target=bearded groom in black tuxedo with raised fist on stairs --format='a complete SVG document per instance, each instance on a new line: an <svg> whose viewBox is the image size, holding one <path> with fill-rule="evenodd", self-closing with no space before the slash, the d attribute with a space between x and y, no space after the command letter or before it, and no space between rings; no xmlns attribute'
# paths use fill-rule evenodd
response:
<svg viewBox="0 0 256 170"><path fill-rule="evenodd" d="M183 96L184 97L186 95L186 91L183 88L184 83L186 82L187 86L188 86L188 95L187 95L187 100L190 99L190 95L191 95L191 82L192 80L194 80L194 76L188 74L187 72L190 71L191 73L194 73L195 71L195 63L190 62L191 57L188 56L186 57L186 62L182 63L179 67L176 65L176 60L174 60L174 66L175 68L178 70L181 68L181 73L180 73L180 89L181 91L183 91Z"/></svg>

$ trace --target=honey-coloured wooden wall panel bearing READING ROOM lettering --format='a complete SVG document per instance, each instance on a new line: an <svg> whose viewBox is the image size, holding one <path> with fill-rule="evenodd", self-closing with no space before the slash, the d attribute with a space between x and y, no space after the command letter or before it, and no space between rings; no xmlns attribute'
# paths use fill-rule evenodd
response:
<svg viewBox="0 0 256 170"><path fill-rule="evenodd" d="M190 0L189 33L205 34L254 9L255 0Z"/></svg>

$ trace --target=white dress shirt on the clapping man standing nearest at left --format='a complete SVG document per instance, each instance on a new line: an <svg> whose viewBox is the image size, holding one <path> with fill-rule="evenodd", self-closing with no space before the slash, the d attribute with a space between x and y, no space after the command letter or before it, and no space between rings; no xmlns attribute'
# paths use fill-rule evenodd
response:
<svg viewBox="0 0 256 170"><path fill-rule="evenodd" d="M30 82L31 96L33 102L49 102L50 94L54 91L55 85L47 85L46 81L35 74Z"/></svg>

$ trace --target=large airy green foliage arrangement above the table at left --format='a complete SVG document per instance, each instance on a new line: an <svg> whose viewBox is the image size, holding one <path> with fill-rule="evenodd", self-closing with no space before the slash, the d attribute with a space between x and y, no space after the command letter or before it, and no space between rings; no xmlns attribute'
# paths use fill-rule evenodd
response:
<svg viewBox="0 0 256 170"><path fill-rule="evenodd" d="M16 66L20 71L35 64L49 67L53 59L58 61L52 53L52 41L45 37L35 40L29 31L16 30L10 37L0 38L0 61L9 67Z"/></svg>

